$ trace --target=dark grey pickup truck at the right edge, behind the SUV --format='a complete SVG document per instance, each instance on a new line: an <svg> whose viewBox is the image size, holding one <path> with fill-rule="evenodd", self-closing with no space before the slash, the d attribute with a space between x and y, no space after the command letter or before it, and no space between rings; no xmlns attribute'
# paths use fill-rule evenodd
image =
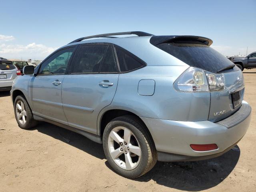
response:
<svg viewBox="0 0 256 192"><path fill-rule="evenodd" d="M230 60L240 68L240 70L256 68L256 52L246 57L232 57Z"/></svg>

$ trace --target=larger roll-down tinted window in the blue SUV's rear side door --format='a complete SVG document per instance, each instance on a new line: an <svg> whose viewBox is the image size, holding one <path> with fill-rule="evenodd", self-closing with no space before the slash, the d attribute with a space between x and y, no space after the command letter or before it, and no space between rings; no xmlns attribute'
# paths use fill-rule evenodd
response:
<svg viewBox="0 0 256 192"><path fill-rule="evenodd" d="M72 73L98 73L106 45L82 46L76 57Z"/></svg>

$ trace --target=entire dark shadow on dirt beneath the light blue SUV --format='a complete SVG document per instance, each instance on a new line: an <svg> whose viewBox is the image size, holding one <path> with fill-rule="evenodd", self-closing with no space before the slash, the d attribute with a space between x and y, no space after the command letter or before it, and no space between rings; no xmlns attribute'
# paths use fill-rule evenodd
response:
<svg viewBox="0 0 256 192"><path fill-rule="evenodd" d="M70 130L45 122L38 124L32 130L38 130L38 132L66 142L96 158L105 158L101 144ZM236 146L236 150L230 150L222 156L209 160L157 162L150 172L134 180L139 182L152 182L153 180L156 184L186 191L205 190L218 185L228 177L236 166L239 157L240 150ZM114 171L108 164L108 161L105 164ZM235 175L230 175L230 177L235 177Z"/></svg>

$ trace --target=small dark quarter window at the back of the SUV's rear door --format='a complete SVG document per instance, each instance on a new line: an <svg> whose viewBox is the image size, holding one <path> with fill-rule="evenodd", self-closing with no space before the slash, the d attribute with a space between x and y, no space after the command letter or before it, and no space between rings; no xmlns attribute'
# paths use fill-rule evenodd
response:
<svg viewBox="0 0 256 192"><path fill-rule="evenodd" d="M106 50L105 56L101 63L100 72L118 72L112 46L108 46Z"/></svg>

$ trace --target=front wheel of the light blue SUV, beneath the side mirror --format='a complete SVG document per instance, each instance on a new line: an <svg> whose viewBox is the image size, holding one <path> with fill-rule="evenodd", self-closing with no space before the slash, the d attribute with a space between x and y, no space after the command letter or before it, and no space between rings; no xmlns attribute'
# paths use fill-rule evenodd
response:
<svg viewBox="0 0 256 192"><path fill-rule="evenodd" d="M37 121L33 118L28 102L23 95L19 95L15 98L14 114L18 126L22 129L30 129L37 124Z"/></svg>

